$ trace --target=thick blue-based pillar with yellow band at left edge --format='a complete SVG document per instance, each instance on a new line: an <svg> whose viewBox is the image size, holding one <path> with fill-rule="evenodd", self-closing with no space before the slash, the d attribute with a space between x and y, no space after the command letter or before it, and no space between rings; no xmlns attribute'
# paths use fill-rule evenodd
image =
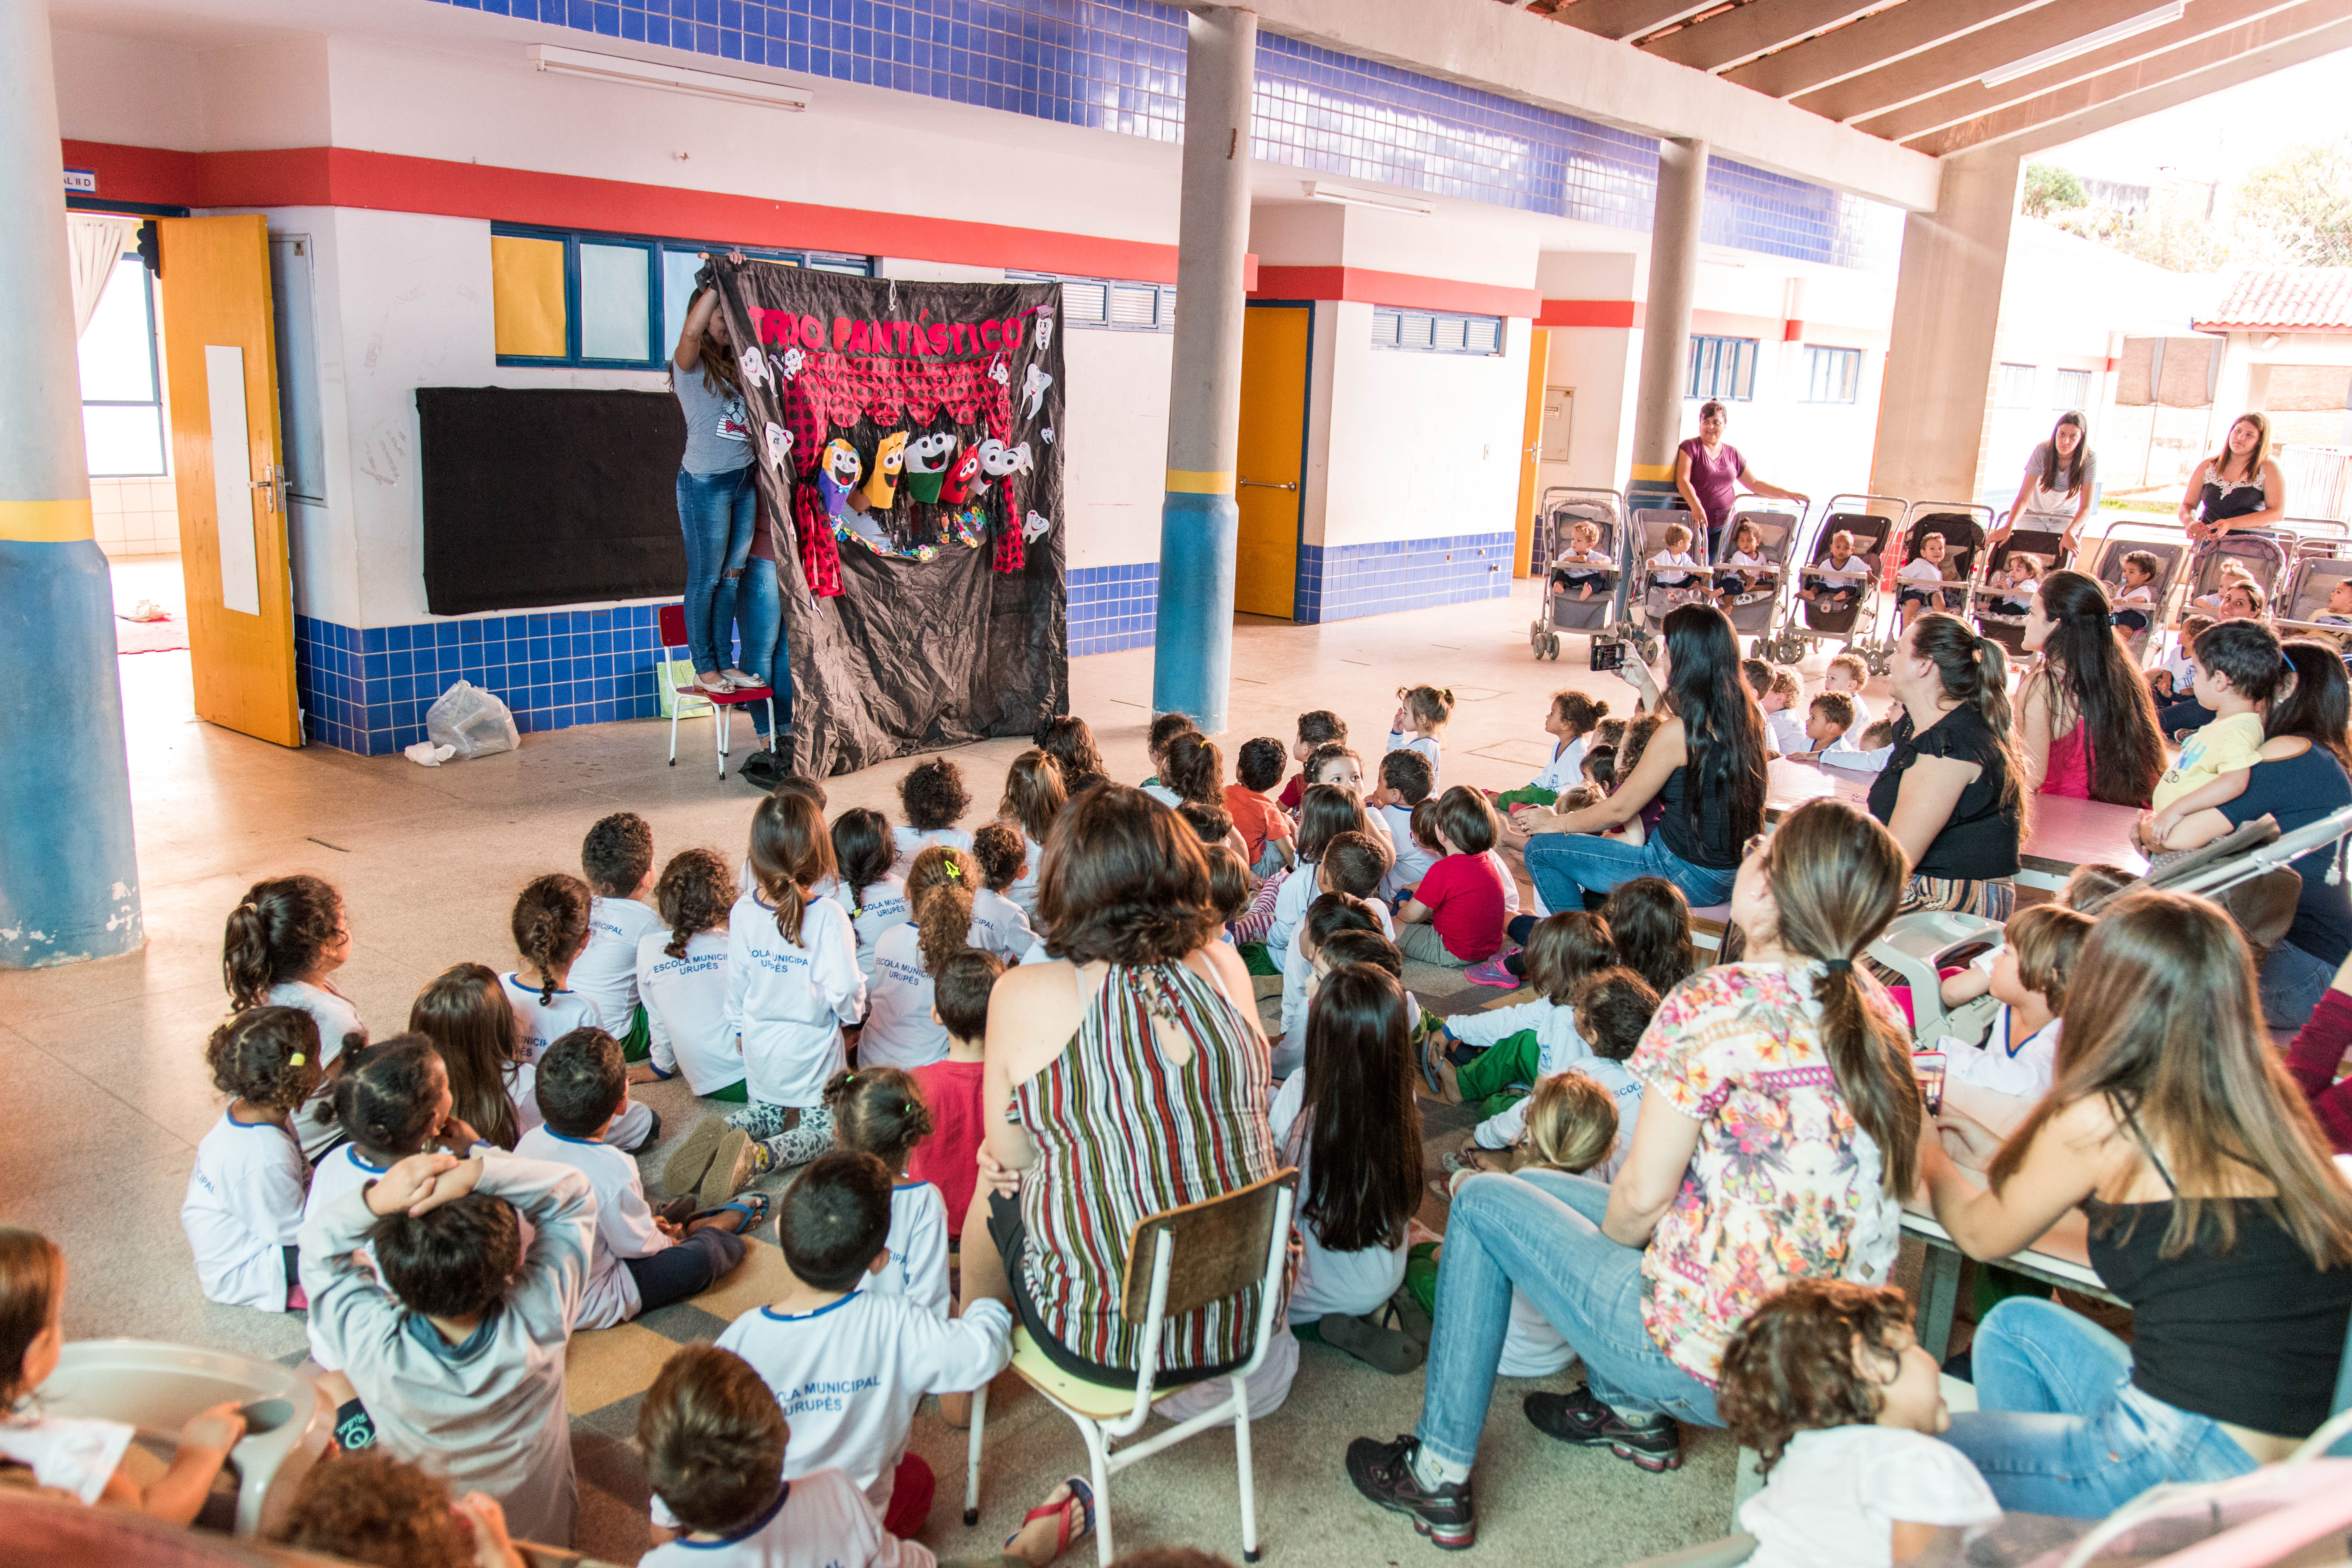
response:
<svg viewBox="0 0 2352 1568"><path fill-rule="evenodd" d="M49 7L0 5L0 966L146 940L92 538Z"/></svg>

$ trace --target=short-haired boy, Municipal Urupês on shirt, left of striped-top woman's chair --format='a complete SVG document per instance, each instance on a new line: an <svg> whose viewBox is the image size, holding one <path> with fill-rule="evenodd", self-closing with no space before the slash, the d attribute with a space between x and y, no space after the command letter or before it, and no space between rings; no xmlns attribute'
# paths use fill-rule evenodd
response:
<svg viewBox="0 0 2352 1568"><path fill-rule="evenodd" d="M783 1476L840 1467L866 1488L891 1535L915 1535L936 1479L906 1450L924 1394L964 1394L1011 1359L1004 1302L964 1302L936 1319L906 1295L858 1291L889 1267L891 1173L873 1154L821 1154L786 1187L776 1215L793 1286L720 1335L767 1380L793 1422Z"/></svg>

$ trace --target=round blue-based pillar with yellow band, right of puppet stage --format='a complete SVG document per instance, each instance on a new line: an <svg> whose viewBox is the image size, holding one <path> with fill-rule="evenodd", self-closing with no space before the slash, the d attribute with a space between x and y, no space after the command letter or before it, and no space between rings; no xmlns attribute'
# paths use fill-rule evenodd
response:
<svg viewBox="0 0 2352 1568"><path fill-rule="evenodd" d="M1183 212L1176 226L1176 346L1169 480L1160 508L1152 712L1225 729L1232 689L1232 477L1242 428L1242 261L1249 254L1249 94L1258 14L1185 19Z"/></svg>

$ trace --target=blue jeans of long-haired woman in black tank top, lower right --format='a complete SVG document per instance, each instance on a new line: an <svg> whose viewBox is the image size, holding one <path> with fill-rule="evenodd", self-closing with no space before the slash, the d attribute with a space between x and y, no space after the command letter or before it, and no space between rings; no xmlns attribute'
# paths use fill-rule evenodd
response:
<svg viewBox="0 0 2352 1568"><path fill-rule="evenodd" d="M2131 1347L2046 1300L2013 1295L1976 1328L1976 1399L1943 1441L2004 1509L2105 1519L2159 1481L2227 1481L2253 1455L2209 1415L2131 1387Z"/></svg>

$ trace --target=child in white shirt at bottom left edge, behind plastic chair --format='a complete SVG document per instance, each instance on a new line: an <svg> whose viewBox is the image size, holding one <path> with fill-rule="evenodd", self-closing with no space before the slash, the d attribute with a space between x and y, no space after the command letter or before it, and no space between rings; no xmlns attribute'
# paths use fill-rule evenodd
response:
<svg viewBox="0 0 2352 1568"><path fill-rule="evenodd" d="M42 1415L33 1389L66 1347L66 1253L33 1229L0 1225L0 1472L31 1469L35 1486L111 1502L165 1523L193 1523L228 1450L245 1436L242 1401L198 1410L179 1429L172 1465L125 1455L139 1429L120 1420ZM151 1476L139 1481L139 1476ZM35 1547L38 1552L38 1547Z"/></svg>

